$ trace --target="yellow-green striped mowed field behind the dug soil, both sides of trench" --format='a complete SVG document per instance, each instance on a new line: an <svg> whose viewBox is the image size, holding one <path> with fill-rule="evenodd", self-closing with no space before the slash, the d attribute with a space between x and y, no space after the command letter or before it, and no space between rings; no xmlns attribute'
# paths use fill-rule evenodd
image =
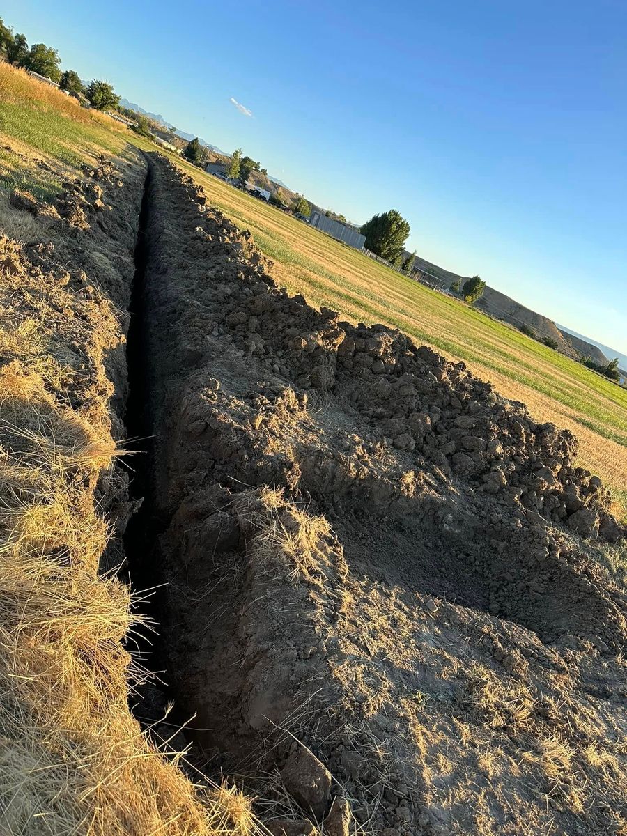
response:
<svg viewBox="0 0 627 836"><path fill-rule="evenodd" d="M129 145L155 150L113 120L91 115L46 85L0 66L3 191L18 186L48 197L59 188L59 168L70 172L94 153L124 157ZM45 164L47 159L56 171L48 172L36 162ZM572 430L579 437L579 463L604 479L614 491L615 510L625 514L627 390L173 159L238 226L251 230L257 246L273 258L275 278L290 293L303 293L310 303L335 308L345 319L402 329L449 359L464 360L502 395L526 403L539 419Z"/></svg>

